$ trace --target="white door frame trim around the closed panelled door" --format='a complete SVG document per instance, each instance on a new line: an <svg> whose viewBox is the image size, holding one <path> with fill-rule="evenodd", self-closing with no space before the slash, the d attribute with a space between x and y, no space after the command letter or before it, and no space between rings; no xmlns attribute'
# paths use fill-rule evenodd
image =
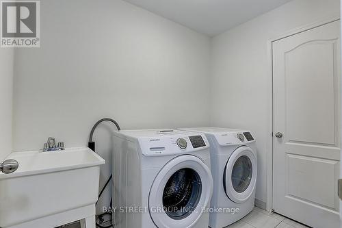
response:
<svg viewBox="0 0 342 228"><path fill-rule="evenodd" d="M273 132L274 132L274 97L273 97L273 42L277 40L281 40L283 38L287 38L289 36L293 36L295 34L299 34L303 31L308 31L310 29L315 29L316 27L320 27L326 25L328 23L332 23L334 21L339 21L340 15L338 16L330 16L328 18L321 19L319 21L315 21L314 23L310 23L304 26L296 27L295 29L291 29L285 33L282 33L278 36L270 38L267 40L267 62L268 62L268 75L269 75L269 140L267 140L267 170L266 170L266 209L268 212L273 211L273 153L274 153L274 144L273 144Z"/></svg>

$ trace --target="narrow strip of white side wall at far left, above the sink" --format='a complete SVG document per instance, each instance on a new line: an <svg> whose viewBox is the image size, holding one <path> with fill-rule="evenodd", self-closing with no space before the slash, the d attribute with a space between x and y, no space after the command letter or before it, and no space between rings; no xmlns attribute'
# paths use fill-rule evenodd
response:
<svg viewBox="0 0 342 228"><path fill-rule="evenodd" d="M12 151L13 49L0 49L0 162Z"/></svg>

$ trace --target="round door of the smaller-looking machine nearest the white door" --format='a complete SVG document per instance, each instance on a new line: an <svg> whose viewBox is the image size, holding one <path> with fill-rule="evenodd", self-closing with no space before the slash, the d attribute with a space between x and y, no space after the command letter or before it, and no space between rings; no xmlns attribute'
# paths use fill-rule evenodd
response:
<svg viewBox="0 0 342 228"><path fill-rule="evenodd" d="M229 157L224 170L224 190L235 203L244 203L257 182L257 157L250 147L238 147Z"/></svg>

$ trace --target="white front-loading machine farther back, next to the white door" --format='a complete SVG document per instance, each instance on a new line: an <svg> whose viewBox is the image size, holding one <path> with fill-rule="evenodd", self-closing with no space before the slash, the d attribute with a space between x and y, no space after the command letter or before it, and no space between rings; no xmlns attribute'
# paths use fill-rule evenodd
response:
<svg viewBox="0 0 342 228"><path fill-rule="evenodd" d="M211 210L209 227L226 227L250 213L257 183L256 145L250 131L218 127L183 130L204 133L210 143L214 182L211 207L216 210Z"/></svg>

